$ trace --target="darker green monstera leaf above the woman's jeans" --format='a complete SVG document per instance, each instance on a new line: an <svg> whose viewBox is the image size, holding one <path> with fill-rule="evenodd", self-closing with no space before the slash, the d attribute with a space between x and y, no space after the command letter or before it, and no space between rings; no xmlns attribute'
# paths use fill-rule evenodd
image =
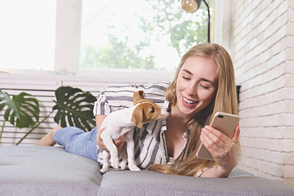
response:
<svg viewBox="0 0 294 196"><path fill-rule="evenodd" d="M96 98L89 92L83 92L79 88L70 86L59 87L55 91L56 105L53 110L58 110L54 121L62 127L74 126L90 131L90 123L95 127L96 121L93 116L94 102ZM82 104L83 103L83 104ZM66 124L66 118L69 125Z"/></svg>

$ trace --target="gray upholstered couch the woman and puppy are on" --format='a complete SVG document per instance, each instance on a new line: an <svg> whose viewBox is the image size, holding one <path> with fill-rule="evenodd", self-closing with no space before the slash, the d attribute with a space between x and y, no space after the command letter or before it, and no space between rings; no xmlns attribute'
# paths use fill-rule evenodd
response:
<svg viewBox="0 0 294 196"><path fill-rule="evenodd" d="M294 195L287 185L236 167L228 178L100 169L63 147L0 147L0 195Z"/></svg>

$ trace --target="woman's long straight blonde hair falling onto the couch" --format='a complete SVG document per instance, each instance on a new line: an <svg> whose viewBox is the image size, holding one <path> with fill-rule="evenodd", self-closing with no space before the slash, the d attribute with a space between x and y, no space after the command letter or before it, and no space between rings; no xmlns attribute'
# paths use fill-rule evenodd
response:
<svg viewBox="0 0 294 196"><path fill-rule="evenodd" d="M216 63L218 78L218 90L216 96L206 108L201 110L201 115L198 113L198 115L195 115L194 118L192 118L192 120L186 124L186 129L190 127L190 154L183 160L178 160L175 163L150 165L147 170L173 175L195 176L205 167L217 165L216 161L214 160L198 158L196 156L196 152L201 144L201 140L199 138L201 129L205 125L210 125L216 112L225 112L238 115L234 67L229 53L218 44L201 43L193 46L187 53L183 55L177 68L175 78L168 86L165 92L165 96L166 100L168 100L172 105L176 105L176 82L181 67L189 57L196 56L210 58ZM238 143L235 148L238 160L240 157L240 143Z"/></svg>

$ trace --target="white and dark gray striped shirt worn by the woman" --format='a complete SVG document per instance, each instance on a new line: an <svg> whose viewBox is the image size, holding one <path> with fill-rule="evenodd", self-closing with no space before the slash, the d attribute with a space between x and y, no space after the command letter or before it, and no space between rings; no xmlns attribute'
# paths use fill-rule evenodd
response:
<svg viewBox="0 0 294 196"><path fill-rule="evenodd" d="M133 94L139 90L144 91L144 99L151 100L159 106L168 107L169 102L165 99L165 91L169 85L170 82L149 83L147 85L143 85L143 83L139 85L121 84L104 87L100 91L97 101L94 103L93 114L94 116L108 115L116 110L133 107ZM189 149L187 146L190 130L187 130L183 134L185 145L181 153L168 162L164 136L165 131L167 131L165 119L145 123L142 128L138 128L137 126L134 128L134 158L139 168L145 169L153 164L175 163L177 160L183 160L189 155L190 152L187 150ZM103 149L99 148L98 145L96 153L97 161L103 165ZM121 155L119 155L119 160L122 160Z"/></svg>

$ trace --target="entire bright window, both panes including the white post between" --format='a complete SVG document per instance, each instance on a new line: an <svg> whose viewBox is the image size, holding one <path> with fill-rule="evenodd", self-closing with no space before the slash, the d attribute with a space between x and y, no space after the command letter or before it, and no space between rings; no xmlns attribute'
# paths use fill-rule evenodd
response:
<svg viewBox="0 0 294 196"><path fill-rule="evenodd" d="M9 73L36 67L83 78L142 78L152 70L158 80L189 48L207 42L203 2L193 14L177 0L19 0L0 10L0 71Z"/></svg>

